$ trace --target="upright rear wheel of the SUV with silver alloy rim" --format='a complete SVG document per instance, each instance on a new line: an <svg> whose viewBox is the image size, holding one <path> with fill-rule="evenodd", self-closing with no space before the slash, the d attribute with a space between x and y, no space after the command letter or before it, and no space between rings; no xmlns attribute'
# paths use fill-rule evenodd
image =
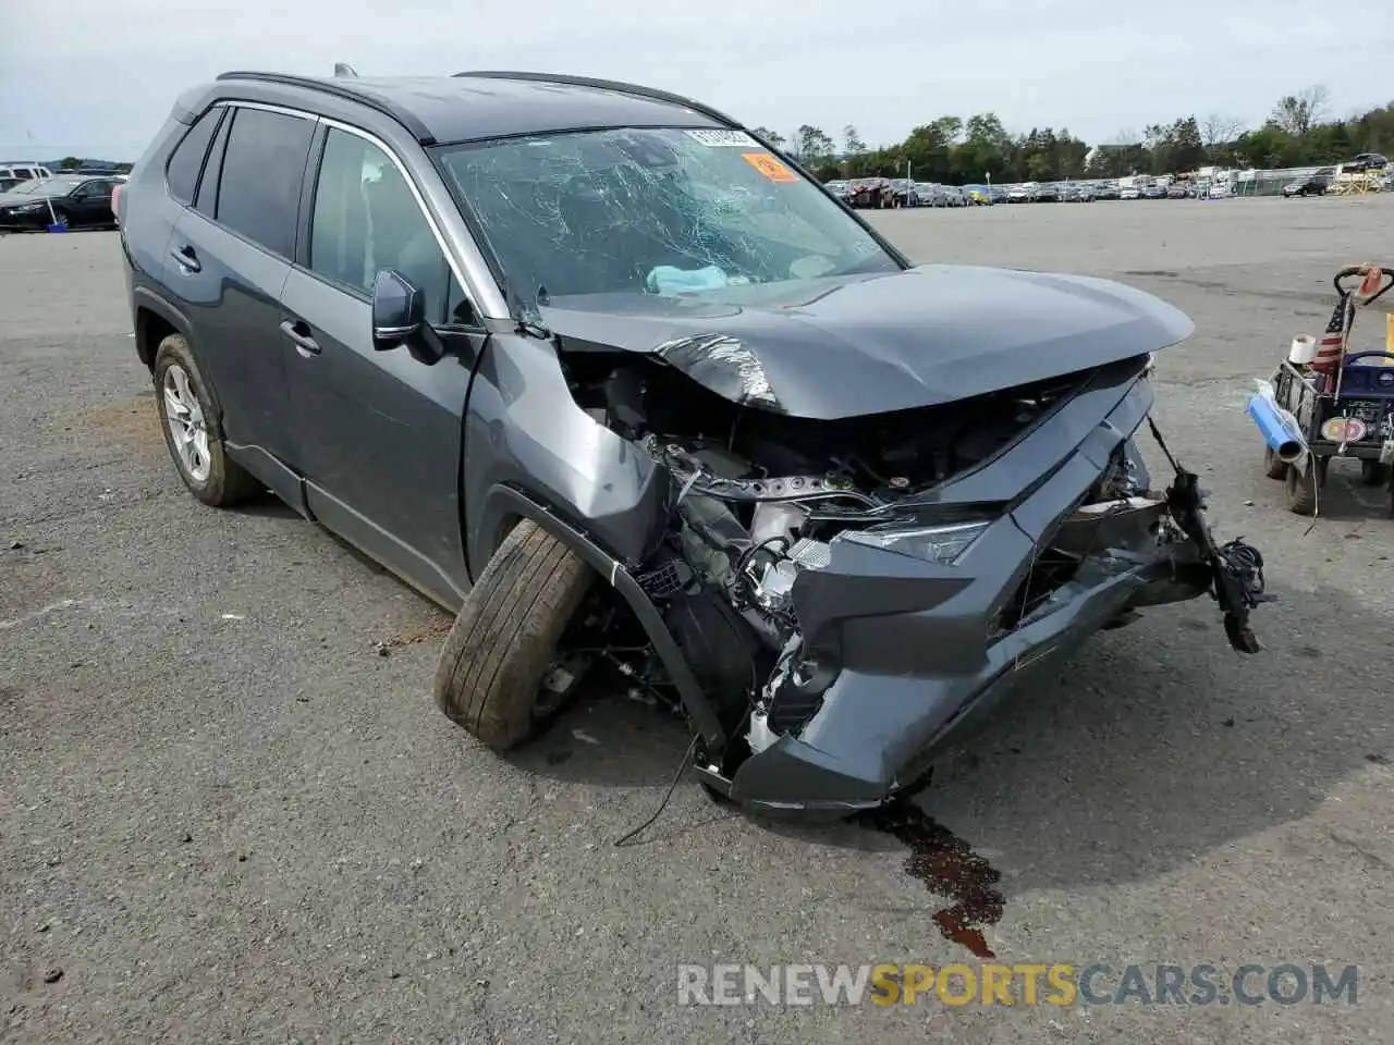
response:
<svg viewBox="0 0 1394 1045"><path fill-rule="evenodd" d="M164 444L190 493L213 507L261 495L265 486L223 449L213 398L183 337L160 341L152 376Z"/></svg>

